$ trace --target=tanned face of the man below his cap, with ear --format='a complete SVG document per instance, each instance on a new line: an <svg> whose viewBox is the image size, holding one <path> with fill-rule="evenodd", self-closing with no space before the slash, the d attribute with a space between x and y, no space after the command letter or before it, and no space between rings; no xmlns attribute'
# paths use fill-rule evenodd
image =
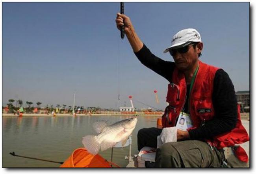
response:
<svg viewBox="0 0 256 174"><path fill-rule="evenodd" d="M173 59L176 67L180 71L186 71L191 69L198 61L198 54L202 51L202 43L198 43L194 48L193 45L188 45L188 51L186 53L180 53L179 51L173 51Z"/></svg>

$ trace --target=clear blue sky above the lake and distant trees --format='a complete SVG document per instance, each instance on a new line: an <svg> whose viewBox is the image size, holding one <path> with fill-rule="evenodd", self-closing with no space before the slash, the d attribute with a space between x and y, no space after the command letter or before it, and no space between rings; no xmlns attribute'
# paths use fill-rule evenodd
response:
<svg viewBox="0 0 256 174"><path fill-rule="evenodd" d="M3 3L2 102L163 109L168 81L144 67L115 26L119 3ZM249 3L125 3L141 40L164 60L173 34L199 31L203 62L249 90ZM118 71L118 62L120 70ZM120 101L118 102L118 72ZM160 103L156 103L154 89ZM137 108L147 107L136 101Z"/></svg>

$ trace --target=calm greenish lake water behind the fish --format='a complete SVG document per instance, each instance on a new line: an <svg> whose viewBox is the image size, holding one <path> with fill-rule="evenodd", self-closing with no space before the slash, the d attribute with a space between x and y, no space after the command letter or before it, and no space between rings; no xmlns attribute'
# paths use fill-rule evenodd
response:
<svg viewBox="0 0 256 174"><path fill-rule="evenodd" d="M95 135L92 123L109 120L108 125L132 116L57 116L57 117L3 117L2 118L2 167L59 167L60 164L14 157L20 156L65 161L72 151L83 147L82 137ZM132 132L132 155L137 154L137 132L144 127L156 127L159 116L138 116ZM125 167L129 148L113 150L113 162ZM111 160L111 148L99 153Z"/></svg>

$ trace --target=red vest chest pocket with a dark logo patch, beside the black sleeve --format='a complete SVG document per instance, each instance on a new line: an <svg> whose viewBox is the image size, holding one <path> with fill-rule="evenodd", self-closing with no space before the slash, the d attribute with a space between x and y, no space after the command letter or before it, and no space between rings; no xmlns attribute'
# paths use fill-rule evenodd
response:
<svg viewBox="0 0 256 174"><path fill-rule="evenodd" d="M195 100L195 114L199 116L200 120L208 121L214 116L213 103L210 98L203 100Z"/></svg>

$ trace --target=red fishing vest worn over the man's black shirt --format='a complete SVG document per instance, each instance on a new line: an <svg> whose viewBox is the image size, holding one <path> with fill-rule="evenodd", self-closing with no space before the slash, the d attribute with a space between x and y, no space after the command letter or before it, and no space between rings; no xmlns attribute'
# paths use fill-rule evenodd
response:
<svg viewBox="0 0 256 174"><path fill-rule="evenodd" d="M189 112L193 122L191 129L195 129L205 121L209 121L215 117L212 93L214 76L218 69L217 67L199 61L197 76L195 77L191 94L189 94ZM186 90L189 89L186 89L185 76L175 68L173 72L173 82L168 85L166 101L169 103L169 106L166 107L165 114L162 116L163 127L175 126L176 119L178 119L180 111L185 105ZM217 149L249 141L247 131L241 123L239 105L237 107L236 127L230 132L225 132L206 141L217 147Z"/></svg>

